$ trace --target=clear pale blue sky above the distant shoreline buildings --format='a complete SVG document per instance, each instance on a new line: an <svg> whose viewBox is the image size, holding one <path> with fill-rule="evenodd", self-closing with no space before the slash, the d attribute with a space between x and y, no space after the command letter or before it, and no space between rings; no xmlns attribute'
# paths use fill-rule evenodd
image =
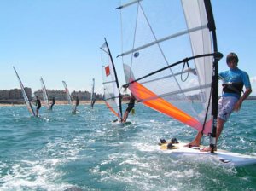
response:
<svg viewBox="0 0 256 191"><path fill-rule="evenodd" d="M153 0L151 0L153 1ZM155 0L160 3L161 0ZM0 0L0 90L24 86L39 90L102 92L100 47L107 38L120 84L125 84L121 59L120 0ZM238 67L248 73L256 95L256 1L212 0L218 50L236 52ZM219 72L227 70L225 59Z"/></svg>

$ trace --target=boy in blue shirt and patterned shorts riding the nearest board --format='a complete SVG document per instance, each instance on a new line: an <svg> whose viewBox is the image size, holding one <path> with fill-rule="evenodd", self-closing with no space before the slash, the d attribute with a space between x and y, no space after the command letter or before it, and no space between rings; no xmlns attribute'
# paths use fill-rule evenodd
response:
<svg viewBox="0 0 256 191"><path fill-rule="evenodd" d="M230 70L219 73L219 78L224 80L223 95L218 100L218 119L217 119L217 132L216 132L216 145L218 137L220 136L224 123L230 118L233 111L238 112L241 108L242 102L252 92L249 76L247 72L241 71L238 67L238 56L235 53L230 53L226 57L226 62ZM246 90L241 96L242 88L245 86ZM198 147L201 142L201 132L197 133L194 141L190 142L187 146ZM212 148L204 148L201 151L211 151ZM215 148L217 150L217 146Z"/></svg>

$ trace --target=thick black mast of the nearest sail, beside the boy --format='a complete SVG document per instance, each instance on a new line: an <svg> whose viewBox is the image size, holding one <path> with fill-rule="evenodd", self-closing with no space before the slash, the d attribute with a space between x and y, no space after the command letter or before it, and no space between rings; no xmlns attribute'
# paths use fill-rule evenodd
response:
<svg viewBox="0 0 256 191"><path fill-rule="evenodd" d="M215 21L212 14L212 4L210 0L204 0L206 12L207 12L207 20L208 20L208 28L209 31L212 32L212 43L213 43L213 51L214 53L218 52L217 46L217 35L216 35L216 26ZM222 57L222 56L221 56ZM210 147L212 148L211 153L214 153L214 148L216 146L216 130L217 130L217 118L218 118L218 60L221 57L214 57L214 61L212 64L212 134L210 134Z"/></svg>

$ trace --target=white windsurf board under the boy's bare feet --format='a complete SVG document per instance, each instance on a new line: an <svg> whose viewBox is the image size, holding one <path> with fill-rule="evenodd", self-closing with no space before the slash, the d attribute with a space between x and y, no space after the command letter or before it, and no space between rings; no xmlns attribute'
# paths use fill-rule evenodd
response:
<svg viewBox="0 0 256 191"><path fill-rule="evenodd" d="M187 143L179 142L173 143L172 148L167 148L167 145L170 142L160 144L160 150L166 153L172 153L173 155L186 155L186 156L209 156L214 159L218 159L221 164L224 165L256 165L256 156L241 154L241 153L232 153L226 150L218 149L215 153L211 152L202 152L201 149L204 146L200 147L186 147Z"/></svg>

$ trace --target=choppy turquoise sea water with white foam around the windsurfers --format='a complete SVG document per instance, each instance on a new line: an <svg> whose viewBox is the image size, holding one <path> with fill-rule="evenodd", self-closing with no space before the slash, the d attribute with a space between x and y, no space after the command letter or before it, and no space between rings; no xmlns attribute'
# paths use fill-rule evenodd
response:
<svg viewBox="0 0 256 191"><path fill-rule="evenodd" d="M244 101L218 148L256 155L255 108ZM256 190L256 165L173 157L157 147L160 138L189 142L195 130L142 104L135 110L120 126L103 104L77 114L42 107L39 119L25 106L0 107L0 190Z"/></svg>

